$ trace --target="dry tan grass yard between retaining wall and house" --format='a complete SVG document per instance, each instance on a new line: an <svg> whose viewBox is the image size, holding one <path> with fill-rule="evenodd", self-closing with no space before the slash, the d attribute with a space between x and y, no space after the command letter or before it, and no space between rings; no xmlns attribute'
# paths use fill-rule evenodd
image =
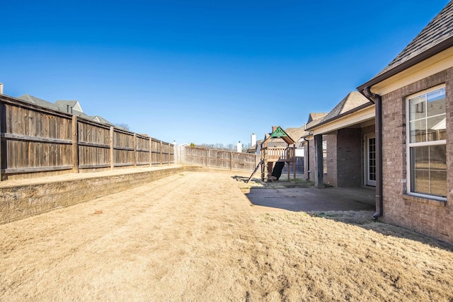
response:
<svg viewBox="0 0 453 302"><path fill-rule="evenodd" d="M238 175L0 225L0 301L453 301L452 245L367 211L258 213Z"/></svg>

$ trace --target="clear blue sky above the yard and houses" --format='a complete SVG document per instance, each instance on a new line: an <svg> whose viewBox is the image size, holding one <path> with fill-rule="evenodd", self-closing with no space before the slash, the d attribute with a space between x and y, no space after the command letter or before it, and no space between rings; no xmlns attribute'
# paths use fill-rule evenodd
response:
<svg viewBox="0 0 453 302"><path fill-rule="evenodd" d="M249 143L333 109L447 3L4 1L0 82L168 142Z"/></svg>

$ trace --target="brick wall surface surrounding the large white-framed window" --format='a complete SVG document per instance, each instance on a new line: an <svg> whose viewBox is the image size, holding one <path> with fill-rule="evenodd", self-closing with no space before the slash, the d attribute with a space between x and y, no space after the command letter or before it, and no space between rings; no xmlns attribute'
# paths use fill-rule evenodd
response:
<svg viewBox="0 0 453 302"><path fill-rule="evenodd" d="M445 83L447 171L453 168L453 69L382 95L382 219L453 243L453 173L447 173L447 202L415 197L406 190L406 97Z"/></svg>

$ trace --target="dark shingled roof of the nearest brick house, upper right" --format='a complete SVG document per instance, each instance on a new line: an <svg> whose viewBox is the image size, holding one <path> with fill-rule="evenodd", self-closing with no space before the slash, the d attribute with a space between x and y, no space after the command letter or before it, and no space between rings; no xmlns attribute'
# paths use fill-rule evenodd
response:
<svg viewBox="0 0 453 302"><path fill-rule="evenodd" d="M389 77L404 69L408 69L452 46L453 1L450 1L388 66L382 69L373 79L357 87L357 90L362 91L366 87L389 79Z"/></svg>

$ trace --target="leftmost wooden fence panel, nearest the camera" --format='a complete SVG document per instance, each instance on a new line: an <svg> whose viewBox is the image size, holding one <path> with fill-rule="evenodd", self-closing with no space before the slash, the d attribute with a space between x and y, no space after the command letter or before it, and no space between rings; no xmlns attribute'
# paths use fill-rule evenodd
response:
<svg viewBox="0 0 453 302"><path fill-rule="evenodd" d="M71 118L2 104L3 175L67 170L71 166ZM72 167L71 167L72 168Z"/></svg>

